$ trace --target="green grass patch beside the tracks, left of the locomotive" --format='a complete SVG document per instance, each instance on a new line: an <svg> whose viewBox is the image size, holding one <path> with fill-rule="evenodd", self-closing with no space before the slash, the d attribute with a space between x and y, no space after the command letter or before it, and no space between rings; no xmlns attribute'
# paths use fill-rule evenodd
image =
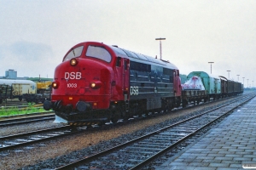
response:
<svg viewBox="0 0 256 170"><path fill-rule="evenodd" d="M21 115L21 114L29 114L35 112L45 112L43 108L36 108L34 104L28 103L28 105L24 108L18 108L17 106L4 108L1 107L0 109L0 116L14 116L14 115Z"/></svg>

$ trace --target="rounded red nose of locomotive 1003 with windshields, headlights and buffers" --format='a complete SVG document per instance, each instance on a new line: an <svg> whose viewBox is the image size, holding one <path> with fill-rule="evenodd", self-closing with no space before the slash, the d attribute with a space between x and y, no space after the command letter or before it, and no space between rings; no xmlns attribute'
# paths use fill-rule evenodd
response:
<svg viewBox="0 0 256 170"><path fill-rule="evenodd" d="M86 125L106 121L102 115L110 105L111 59L106 48L86 43L67 53L55 68L51 101L44 102L45 110L55 111L55 122Z"/></svg>

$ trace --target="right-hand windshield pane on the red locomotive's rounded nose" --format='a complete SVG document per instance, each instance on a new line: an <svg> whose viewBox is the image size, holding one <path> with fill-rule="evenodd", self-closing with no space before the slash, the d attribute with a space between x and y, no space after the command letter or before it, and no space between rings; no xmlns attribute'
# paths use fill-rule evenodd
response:
<svg viewBox="0 0 256 170"><path fill-rule="evenodd" d="M96 59L102 59L108 63L112 59L107 49L102 47L91 46L91 45L87 48L85 55L88 57L96 58Z"/></svg>

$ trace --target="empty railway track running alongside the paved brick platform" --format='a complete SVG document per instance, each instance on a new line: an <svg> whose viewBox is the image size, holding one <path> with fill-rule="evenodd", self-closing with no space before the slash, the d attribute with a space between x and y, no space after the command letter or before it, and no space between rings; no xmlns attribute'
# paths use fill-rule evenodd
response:
<svg viewBox="0 0 256 170"><path fill-rule="evenodd" d="M253 99L254 95L243 96L230 104L219 106L211 111L204 111L197 116L190 117L152 133L145 134L137 139L132 139L124 144L119 144L108 150L103 150L91 156L84 156L79 161L69 164L63 163L56 169L139 169L162 155L167 150L172 150L179 144L191 142L189 139L212 123L218 121L240 105ZM183 147L186 144L183 145ZM75 159L75 158L73 158ZM63 165L66 164L66 165Z"/></svg>

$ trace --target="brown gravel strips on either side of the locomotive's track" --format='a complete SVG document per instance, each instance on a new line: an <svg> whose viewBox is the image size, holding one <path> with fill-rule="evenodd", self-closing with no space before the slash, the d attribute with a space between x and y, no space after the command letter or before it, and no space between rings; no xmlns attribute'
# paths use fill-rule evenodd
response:
<svg viewBox="0 0 256 170"><path fill-rule="evenodd" d="M218 101L217 103L210 105L218 105L222 101ZM0 167L2 169L42 169L43 167L52 167L52 165L47 166L47 164L53 161L58 161L58 159L62 159L61 157L65 157L67 154L73 154L74 151L83 150L88 147L104 147L106 144L109 146L108 142L111 140L111 144L114 143L114 139L124 136L127 133L138 133L141 135L143 132L139 132L139 130L145 128L151 128L155 124L159 124L161 122L165 122L166 120L174 119L179 116L186 116L191 112L195 112L205 108L206 106L195 107L193 109L187 109L183 111L172 112L172 114L166 114L163 116L152 117L147 120L142 120L141 122L130 122L125 123L124 125L119 125L118 127L110 127L110 128L96 128L93 131L87 131L84 133L79 133L76 135L71 135L65 138L56 139L53 141L44 142L40 146L38 144L34 145L34 148L20 148L17 151L9 151L5 153L0 153ZM207 105L207 107L210 107ZM32 131L45 127L54 127L59 124L55 124L53 122L38 122L31 123L29 125L20 125L17 127L5 127L4 130L1 130L1 136L3 134L10 133L21 133ZM3 132L5 131L5 132ZM129 136L127 137L129 138ZM128 139L127 139L128 140ZM104 143L104 144L103 144ZM101 146L102 145L102 146ZM89 148L90 150L90 148ZM101 150L101 148L99 149ZM89 154L93 153L93 150L88 152ZM45 161L51 159L50 161ZM38 164L36 167L29 167L34 164ZM41 166L41 167L40 167Z"/></svg>

